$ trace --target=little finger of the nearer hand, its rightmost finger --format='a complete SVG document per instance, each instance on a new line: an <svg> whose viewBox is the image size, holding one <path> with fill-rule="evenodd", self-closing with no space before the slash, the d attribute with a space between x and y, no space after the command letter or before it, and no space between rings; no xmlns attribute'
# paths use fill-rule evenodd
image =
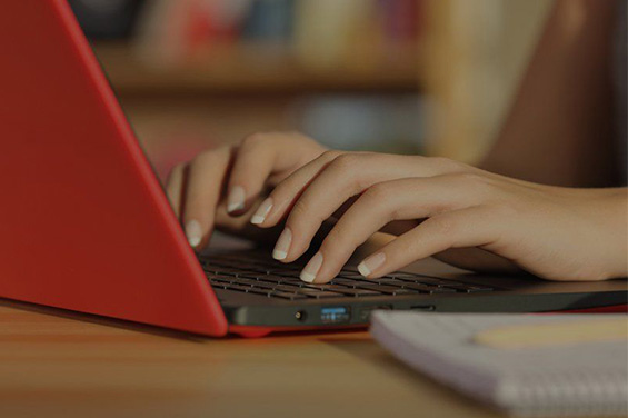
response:
<svg viewBox="0 0 628 418"><path fill-rule="evenodd" d="M437 215L367 257L358 269L365 277L381 277L450 248L489 249L499 238L499 223L486 206Z"/></svg>

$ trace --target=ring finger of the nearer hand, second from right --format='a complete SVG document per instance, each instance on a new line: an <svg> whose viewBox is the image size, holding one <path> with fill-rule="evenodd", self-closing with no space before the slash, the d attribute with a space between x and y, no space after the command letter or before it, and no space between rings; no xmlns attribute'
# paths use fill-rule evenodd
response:
<svg viewBox="0 0 628 418"><path fill-rule="evenodd" d="M322 262L308 263L302 279L317 283L331 280L356 248L391 221L428 218L476 203L476 196L461 190L448 176L377 183L367 189L336 223L315 256Z"/></svg>

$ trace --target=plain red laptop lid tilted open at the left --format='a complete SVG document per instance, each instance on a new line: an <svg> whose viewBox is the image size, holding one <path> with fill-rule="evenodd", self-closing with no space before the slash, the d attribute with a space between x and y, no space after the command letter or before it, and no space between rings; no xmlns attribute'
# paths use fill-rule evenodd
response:
<svg viewBox="0 0 628 418"><path fill-rule="evenodd" d="M66 0L4 2L0 30L0 297L226 334Z"/></svg>

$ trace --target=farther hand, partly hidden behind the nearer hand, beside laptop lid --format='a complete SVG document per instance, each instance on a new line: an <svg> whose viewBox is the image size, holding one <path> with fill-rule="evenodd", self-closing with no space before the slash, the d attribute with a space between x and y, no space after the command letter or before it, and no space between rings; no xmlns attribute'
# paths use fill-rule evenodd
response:
<svg viewBox="0 0 628 418"><path fill-rule="evenodd" d="M166 192L190 246L206 247L215 228L272 239L268 230L250 223L251 215L270 189L326 150L297 132L255 133L239 145L211 149L176 166Z"/></svg>

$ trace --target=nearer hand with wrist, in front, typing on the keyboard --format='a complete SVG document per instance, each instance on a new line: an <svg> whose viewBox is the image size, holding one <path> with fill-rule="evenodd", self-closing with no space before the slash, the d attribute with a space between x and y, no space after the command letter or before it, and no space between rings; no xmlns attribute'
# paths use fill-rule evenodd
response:
<svg viewBox="0 0 628 418"><path fill-rule="evenodd" d="M286 220L273 251L283 262L303 255L322 222L346 208L303 269L308 282L331 280L371 235L400 223L405 231L359 265L363 276L429 256L471 269L517 267L551 280L627 275L626 189L541 186L442 158L328 151L268 199L253 218L262 228ZM451 251L462 248L476 256Z"/></svg>

